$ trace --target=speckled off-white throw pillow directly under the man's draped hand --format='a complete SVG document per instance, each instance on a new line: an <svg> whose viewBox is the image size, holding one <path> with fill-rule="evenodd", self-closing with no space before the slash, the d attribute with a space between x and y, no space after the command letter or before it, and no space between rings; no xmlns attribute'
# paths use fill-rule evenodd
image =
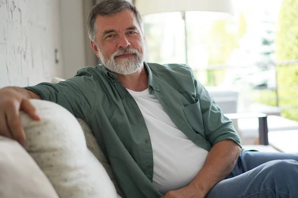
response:
<svg viewBox="0 0 298 198"><path fill-rule="evenodd" d="M21 113L25 149L49 178L60 198L117 198L107 172L86 146L75 117L62 106L31 100L41 121Z"/></svg>

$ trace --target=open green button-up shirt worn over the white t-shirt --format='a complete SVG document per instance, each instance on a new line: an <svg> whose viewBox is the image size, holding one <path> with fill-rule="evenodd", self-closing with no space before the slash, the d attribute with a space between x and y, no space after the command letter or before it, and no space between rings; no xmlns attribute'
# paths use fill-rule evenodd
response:
<svg viewBox="0 0 298 198"><path fill-rule="evenodd" d="M198 147L209 151L224 140L240 145L231 121L222 114L190 67L144 65L149 75L150 95L159 99L173 123ZM152 184L153 154L145 120L115 74L100 64L84 67L73 78L58 84L41 83L26 89L86 121L127 198L163 196Z"/></svg>

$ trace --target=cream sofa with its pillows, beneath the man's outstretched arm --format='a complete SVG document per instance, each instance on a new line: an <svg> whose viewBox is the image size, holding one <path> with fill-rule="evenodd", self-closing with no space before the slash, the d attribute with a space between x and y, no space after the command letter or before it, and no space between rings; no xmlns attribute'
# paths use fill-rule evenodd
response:
<svg viewBox="0 0 298 198"><path fill-rule="evenodd" d="M32 99L41 121L21 112L22 147L0 136L0 198L121 198L96 139L62 106Z"/></svg>

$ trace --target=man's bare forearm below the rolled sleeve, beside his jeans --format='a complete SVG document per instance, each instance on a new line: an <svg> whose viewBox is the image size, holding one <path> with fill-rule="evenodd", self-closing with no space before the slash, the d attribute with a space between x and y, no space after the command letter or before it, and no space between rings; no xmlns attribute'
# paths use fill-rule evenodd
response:
<svg viewBox="0 0 298 198"><path fill-rule="evenodd" d="M205 197L207 193L233 170L241 148L233 141L222 141L211 148L203 168L190 183Z"/></svg>

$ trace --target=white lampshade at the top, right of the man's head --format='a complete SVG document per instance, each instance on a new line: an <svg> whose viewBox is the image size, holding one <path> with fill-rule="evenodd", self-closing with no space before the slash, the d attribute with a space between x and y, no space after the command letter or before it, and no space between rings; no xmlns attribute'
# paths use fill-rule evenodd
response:
<svg viewBox="0 0 298 198"><path fill-rule="evenodd" d="M232 0L135 0L142 16L159 12L211 11L233 15Z"/></svg>

